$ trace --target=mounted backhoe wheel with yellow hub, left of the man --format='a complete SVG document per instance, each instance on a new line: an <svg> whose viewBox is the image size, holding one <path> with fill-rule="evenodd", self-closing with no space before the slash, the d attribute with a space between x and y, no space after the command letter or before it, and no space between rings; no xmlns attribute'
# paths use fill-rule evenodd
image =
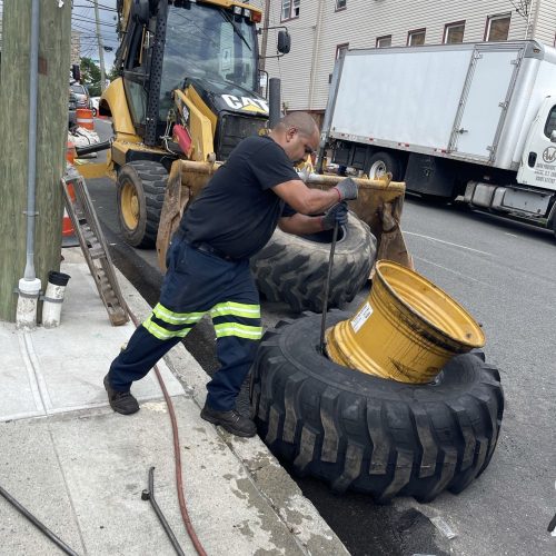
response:
<svg viewBox="0 0 556 556"><path fill-rule="evenodd" d="M155 246L167 180L166 168L151 160L129 162L118 171L118 217L127 244Z"/></svg>

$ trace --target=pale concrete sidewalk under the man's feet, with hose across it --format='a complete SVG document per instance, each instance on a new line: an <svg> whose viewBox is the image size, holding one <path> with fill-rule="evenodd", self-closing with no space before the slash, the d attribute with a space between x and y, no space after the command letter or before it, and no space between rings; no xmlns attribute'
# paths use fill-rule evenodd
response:
<svg viewBox="0 0 556 556"><path fill-rule="evenodd" d="M148 502L155 494L186 554L171 426L155 374L133 386L141 410L115 414L102 378L132 325L112 327L79 249L64 249L71 279L61 326L17 331L0 322L0 486L78 554L171 555ZM118 274L131 310L150 308ZM159 366L178 419L191 522L209 555L347 554L258 437L240 439L199 417L208 376L178 345ZM61 554L0 497L2 555Z"/></svg>

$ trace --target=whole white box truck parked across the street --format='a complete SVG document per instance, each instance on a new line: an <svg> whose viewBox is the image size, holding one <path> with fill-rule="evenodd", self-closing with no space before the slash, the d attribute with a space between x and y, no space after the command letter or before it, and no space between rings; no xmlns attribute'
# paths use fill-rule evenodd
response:
<svg viewBox="0 0 556 556"><path fill-rule="evenodd" d="M371 178L556 234L556 49L535 41L351 50L321 148ZM322 157L320 157L322 158Z"/></svg>

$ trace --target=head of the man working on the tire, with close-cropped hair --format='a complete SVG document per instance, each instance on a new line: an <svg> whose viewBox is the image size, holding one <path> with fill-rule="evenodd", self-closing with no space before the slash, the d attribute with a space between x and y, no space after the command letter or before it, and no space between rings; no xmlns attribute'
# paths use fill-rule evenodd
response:
<svg viewBox="0 0 556 556"><path fill-rule="evenodd" d="M288 113L271 129L270 137L292 162L306 159L319 143L318 126L307 112Z"/></svg>

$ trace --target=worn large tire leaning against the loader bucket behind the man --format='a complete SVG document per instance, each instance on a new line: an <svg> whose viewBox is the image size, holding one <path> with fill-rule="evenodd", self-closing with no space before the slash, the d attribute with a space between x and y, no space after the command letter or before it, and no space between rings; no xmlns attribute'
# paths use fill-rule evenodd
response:
<svg viewBox="0 0 556 556"><path fill-rule="evenodd" d="M285 301L292 310L322 311L332 231L295 236L277 229L265 248L251 258L259 291L269 301ZM328 307L351 301L368 280L377 240L353 212L338 230Z"/></svg>

